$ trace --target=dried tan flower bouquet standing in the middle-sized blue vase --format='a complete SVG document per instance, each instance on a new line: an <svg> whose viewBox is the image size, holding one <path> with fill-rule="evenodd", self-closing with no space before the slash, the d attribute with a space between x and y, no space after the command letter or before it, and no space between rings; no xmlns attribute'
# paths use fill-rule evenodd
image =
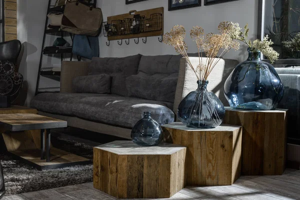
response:
<svg viewBox="0 0 300 200"><path fill-rule="evenodd" d="M175 48L187 61L198 80L207 80L208 75L215 67L220 58L231 48L238 49L239 43L231 37L226 29L219 28L219 34L204 34L202 27L193 26L190 37L196 42L198 49L199 64L193 66L187 55L187 45L184 41L185 29L182 25L175 25L170 32L163 35L163 42ZM202 59L202 51L207 59Z"/></svg>

